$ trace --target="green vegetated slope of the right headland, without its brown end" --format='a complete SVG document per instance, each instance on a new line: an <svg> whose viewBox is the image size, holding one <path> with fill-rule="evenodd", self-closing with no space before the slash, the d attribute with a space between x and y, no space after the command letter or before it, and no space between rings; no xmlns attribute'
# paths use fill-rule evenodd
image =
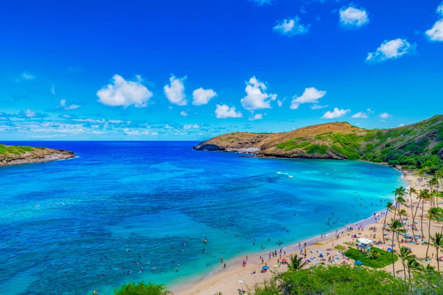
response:
<svg viewBox="0 0 443 295"><path fill-rule="evenodd" d="M392 166L443 168L443 116L394 129L359 129L349 133L326 132L293 138L275 145L285 151L307 154L333 152L345 159L386 162Z"/></svg>

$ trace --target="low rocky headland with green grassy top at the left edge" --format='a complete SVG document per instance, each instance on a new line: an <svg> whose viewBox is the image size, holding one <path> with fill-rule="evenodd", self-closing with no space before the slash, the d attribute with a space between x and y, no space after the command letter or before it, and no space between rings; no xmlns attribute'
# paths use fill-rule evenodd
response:
<svg viewBox="0 0 443 295"><path fill-rule="evenodd" d="M71 159L73 157L75 157L74 153L68 150L54 150L47 147L0 145L0 166L41 163Z"/></svg>

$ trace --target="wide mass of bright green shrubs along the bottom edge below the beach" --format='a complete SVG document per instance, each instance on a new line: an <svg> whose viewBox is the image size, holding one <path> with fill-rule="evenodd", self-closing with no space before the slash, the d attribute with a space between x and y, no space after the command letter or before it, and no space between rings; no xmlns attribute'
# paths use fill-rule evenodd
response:
<svg viewBox="0 0 443 295"><path fill-rule="evenodd" d="M365 267L318 266L288 271L279 279L281 294L407 294L408 287L386 271ZM278 294L278 293L273 293Z"/></svg>

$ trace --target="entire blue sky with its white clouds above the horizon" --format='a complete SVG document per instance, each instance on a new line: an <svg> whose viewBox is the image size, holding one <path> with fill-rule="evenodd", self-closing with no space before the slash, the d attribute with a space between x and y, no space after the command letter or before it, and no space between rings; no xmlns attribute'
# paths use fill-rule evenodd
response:
<svg viewBox="0 0 443 295"><path fill-rule="evenodd" d="M204 140L443 110L439 1L8 1L3 140Z"/></svg>

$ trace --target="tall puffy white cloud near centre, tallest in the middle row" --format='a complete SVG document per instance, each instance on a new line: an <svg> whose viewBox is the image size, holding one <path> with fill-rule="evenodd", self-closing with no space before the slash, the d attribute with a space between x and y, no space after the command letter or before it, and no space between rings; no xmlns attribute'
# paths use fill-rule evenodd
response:
<svg viewBox="0 0 443 295"><path fill-rule="evenodd" d="M266 85L253 77L246 82L246 96L242 98L242 106L248 111L255 109L270 109L271 100L277 98L277 94L266 93Z"/></svg>

